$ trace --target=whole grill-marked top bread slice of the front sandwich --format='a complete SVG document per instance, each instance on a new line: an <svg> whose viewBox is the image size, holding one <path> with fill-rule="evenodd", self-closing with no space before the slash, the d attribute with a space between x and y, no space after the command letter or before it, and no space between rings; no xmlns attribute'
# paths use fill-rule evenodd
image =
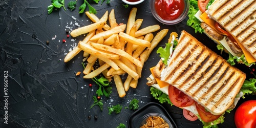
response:
<svg viewBox="0 0 256 128"><path fill-rule="evenodd" d="M195 37L182 31L179 43L161 80L173 84L214 115L223 114L234 102L246 74Z"/></svg>

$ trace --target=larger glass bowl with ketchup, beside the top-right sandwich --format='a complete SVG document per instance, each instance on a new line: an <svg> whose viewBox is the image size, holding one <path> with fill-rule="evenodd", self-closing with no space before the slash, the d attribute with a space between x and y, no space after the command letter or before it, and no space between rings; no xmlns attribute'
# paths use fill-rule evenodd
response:
<svg viewBox="0 0 256 128"><path fill-rule="evenodd" d="M154 17L166 25L180 23L189 10L188 0L151 0L151 12Z"/></svg>

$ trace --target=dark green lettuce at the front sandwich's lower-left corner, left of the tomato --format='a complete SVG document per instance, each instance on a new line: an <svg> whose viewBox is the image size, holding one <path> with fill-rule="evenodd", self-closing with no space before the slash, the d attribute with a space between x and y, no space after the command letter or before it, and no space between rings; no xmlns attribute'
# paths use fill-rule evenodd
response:
<svg viewBox="0 0 256 128"><path fill-rule="evenodd" d="M162 91L158 90L155 87L151 87L150 88L151 94L152 96L159 100L160 103L169 103L170 105L173 105L173 103L170 101L169 96L165 93L163 93Z"/></svg>

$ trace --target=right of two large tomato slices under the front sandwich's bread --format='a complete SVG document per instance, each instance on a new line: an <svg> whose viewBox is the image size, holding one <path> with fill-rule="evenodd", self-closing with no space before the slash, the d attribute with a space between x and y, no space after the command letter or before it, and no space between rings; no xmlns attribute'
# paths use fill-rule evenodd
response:
<svg viewBox="0 0 256 128"><path fill-rule="evenodd" d="M210 112L206 111L204 106L196 103L197 111L199 116L204 122L211 122L217 120L221 115L212 115Z"/></svg>

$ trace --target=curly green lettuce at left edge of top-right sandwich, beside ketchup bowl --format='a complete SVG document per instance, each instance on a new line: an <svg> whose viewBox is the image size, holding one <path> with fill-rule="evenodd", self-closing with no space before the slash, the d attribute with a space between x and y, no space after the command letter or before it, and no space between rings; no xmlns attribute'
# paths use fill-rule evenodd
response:
<svg viewBox="0 0 256 128"><path fill-rule="evenodd" d="M187 25L194 28L195 32L203 33L204 30L201 28L201 22L195 17L195 14L198 12L198 2L197 0L190 0L189 1L189 10L188 10L188 20Z"/></svg>

